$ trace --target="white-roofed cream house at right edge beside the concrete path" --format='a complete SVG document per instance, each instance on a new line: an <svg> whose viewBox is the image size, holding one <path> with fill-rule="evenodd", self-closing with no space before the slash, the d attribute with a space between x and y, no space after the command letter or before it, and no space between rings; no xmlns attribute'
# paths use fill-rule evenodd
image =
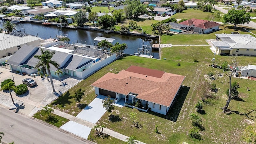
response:
<svg viewBox="0 0 256 144"><path fill-rule="evenodd" d="M256 38L250 34L215 34L212 42L217 55L233 54L256 56Z"/></svg>

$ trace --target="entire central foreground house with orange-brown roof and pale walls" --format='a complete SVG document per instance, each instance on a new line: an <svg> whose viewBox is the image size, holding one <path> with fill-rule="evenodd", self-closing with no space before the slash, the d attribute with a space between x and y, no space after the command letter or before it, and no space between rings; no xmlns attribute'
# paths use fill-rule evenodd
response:
<svg viewBox="0 0 256 144"><path fill-rule="evenodd" d="M111 96L115 102L123 101L124 105L134 107L132 104L140 101L142 108L138 109L151 108L166 115L184 79L185 76L177 74L130 66L118 74L108 72L91 86L95 94Z"/></svg>

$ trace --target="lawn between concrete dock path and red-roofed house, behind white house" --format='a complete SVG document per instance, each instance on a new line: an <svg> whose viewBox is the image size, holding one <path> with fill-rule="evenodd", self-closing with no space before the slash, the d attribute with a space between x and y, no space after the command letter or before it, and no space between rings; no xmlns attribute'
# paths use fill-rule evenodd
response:
<svg viewBox="0 0 256 144"><path fill-rule="evenodd" d="M221 34L226 32L226 34L231 34L231 32L239 32L240 34L250 34L246 30L234 26L220 26L220 30L217 32L212 32L210 34L174 34L174 35L162 35L161 44L207 44L206 39L215 39L215 34ZM250 28L252 32L255 33L255 29ZM254 36L254 35L252 35Z"/></svg>

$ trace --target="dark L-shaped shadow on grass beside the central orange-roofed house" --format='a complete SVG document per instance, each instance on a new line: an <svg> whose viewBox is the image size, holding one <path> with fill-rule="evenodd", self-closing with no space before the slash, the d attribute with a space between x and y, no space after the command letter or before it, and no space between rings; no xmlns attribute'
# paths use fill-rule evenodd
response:
<svg viewBox="0 0 256 144"><path fill-rule="evenodd" d="M180 88L179 93L177 94L177 96L174 98L172 105L168 111L168 113L166 115L164 114L159 114L156 112L152 112L152 111L148 111L149 114L153 114L155 116L159 116L161 118L165 118L167 120L171 120L173 122L176 122L178 119L178 116L180 114L180 110L184 104L184 101L188 95L188 92L190 90L190 87L188 86L182 86ZM139 110L140 111L140 110ZM140 111L143 112L143 111Z"/></svg>

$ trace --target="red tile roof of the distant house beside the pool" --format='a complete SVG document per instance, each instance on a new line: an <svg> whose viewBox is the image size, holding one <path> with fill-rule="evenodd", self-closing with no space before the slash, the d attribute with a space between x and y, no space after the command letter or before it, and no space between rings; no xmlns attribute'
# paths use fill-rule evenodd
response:
<svg viewBox="0 0 256 144"><path fill-rule="evenodd" d="M217 22L210 22L208 20L199 20L192 18L190 20L185 20L183 22L180 22L180 24L184 24L187 26L194 25L197 28L202 28L202 29L208 29L208 28L213 28L214 26L220 26L221 24L218 24Z"/></svg>

